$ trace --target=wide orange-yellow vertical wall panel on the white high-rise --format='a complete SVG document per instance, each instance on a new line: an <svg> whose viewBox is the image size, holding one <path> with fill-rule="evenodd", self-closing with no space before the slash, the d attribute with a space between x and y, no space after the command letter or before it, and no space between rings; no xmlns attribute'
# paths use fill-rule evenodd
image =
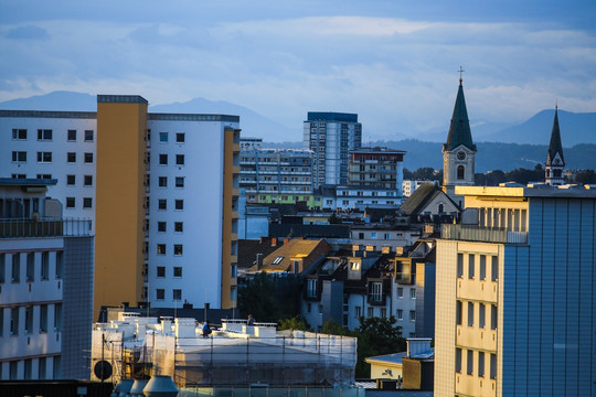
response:
<svg viewBox="0 0 596 397"><path fill-rule="evenodd" d="M94 320L142 300L147 103L132 98L97 104Z"/></svg>

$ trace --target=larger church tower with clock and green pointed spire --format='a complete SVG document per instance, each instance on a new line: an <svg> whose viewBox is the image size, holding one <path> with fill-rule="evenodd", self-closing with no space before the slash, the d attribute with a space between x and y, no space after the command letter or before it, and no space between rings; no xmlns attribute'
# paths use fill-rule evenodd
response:
<svg viewBox="0 0 596 397"><path fill-rule="evenodd" d="M471 139L470 121L461 82L460 76L449 135L447 142L443 146L443 186L444 191L451 197L455 194L456 185L473 185L475 176L476 144Z"/></svg>

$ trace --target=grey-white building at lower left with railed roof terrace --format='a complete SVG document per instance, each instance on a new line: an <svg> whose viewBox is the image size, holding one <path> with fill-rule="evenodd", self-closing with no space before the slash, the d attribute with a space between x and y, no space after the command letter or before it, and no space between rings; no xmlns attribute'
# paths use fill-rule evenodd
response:
<svg viewBox="0 0 596 397"><path fill-rule="evenodd" d="M0 379L88 378L94 238L55 184L0 179Z"/></svg>

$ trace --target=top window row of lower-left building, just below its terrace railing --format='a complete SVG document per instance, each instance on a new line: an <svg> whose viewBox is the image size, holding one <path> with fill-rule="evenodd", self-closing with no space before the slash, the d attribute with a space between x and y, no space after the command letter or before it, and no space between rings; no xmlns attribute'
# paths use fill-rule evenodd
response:
<svg viewBox="0 0 596 397"><path fill-rule="evenodd" d="M25 255L25 259L21 257ZM39 277L39 280L50 280L50 253L28 253L28 254L0 254L0 283L7 281L7 270L10 269L10 282L21 282L21 262L25 265L25 281L32 282ZM10 258L8 257L10 256ZM38 260L35 258L39 258ZM63 253L57 251L53 264L54 279L62 279L64 275ZM38 265L36 265L38 264ZM10 268L9 268L10 266ZM35 268L38 268L35 270ZM9 269L7 269L9 268ZM39 275L38 277L35 276Z"/></svg>

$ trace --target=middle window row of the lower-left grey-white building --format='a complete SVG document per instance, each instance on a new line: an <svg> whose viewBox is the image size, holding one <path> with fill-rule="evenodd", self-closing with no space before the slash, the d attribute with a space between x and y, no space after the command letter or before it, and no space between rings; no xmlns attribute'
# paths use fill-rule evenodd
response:
<svg viewBox="0 0 596 397"><path fill-rule="evenodd" d="M54 312L52 324L47 323L49 308L53 308ZM4 315L10 318L8 332L4 332ZM19 335L21 332L25 335L46 333L51 328L62 330L62 303L0 308L0 337Z"/></svg>

